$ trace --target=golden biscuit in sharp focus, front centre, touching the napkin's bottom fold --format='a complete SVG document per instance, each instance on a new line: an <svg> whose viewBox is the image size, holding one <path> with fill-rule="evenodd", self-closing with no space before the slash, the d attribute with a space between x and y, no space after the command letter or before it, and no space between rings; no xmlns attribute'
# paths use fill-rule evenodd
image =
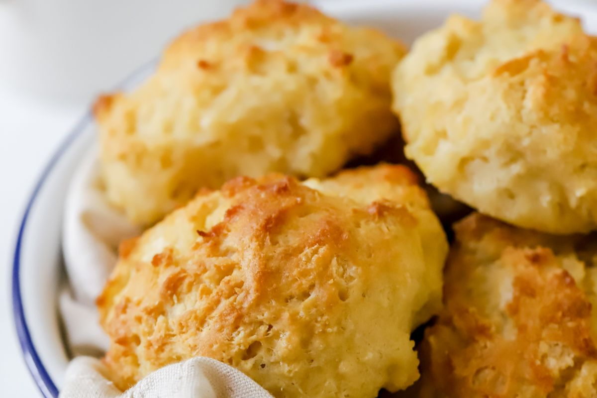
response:
<svg viewBox="0 0 597 398"><path fill-rule="evenodd" d="M399 390L418 377L410 333L439 309L446 253L404 166L239 177L122 246L98 299L104 362L123 389L208 356L276 397Z"/></svg>

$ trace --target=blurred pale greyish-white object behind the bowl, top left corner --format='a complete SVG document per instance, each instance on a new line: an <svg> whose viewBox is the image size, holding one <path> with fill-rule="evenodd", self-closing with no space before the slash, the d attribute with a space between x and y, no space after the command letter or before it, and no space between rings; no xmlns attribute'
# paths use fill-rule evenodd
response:
<svg viewBox="0 0 597 398"><path fill-rule="evenodd" d="M199 20L242 0L4 0L0 76L10 88L54 101L87 100L154 57Z"/></svg>

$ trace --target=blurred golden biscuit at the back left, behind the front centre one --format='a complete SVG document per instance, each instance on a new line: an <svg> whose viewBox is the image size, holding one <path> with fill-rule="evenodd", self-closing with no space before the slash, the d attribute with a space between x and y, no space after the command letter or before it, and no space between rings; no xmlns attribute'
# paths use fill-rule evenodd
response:
<svg viewBox="0 0 597 398"><path fill-rule="evenodd" d="M147 224L237 175L333 172L398 128L389 82L404 53L281 0L189 30L140 88L96 103L107 196Z"/></svg>

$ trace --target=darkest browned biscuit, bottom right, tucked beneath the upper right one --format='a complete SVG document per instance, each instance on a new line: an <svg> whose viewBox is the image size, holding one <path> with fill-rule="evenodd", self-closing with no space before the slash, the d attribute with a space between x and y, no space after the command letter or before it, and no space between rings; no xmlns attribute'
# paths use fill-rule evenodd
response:
<svg viewBox="0 0 597 398"><path fill-rule="evenodd" d="M478 213L455 229L445 308L425 332L413 396L595 397L597 236Z"/></svg>

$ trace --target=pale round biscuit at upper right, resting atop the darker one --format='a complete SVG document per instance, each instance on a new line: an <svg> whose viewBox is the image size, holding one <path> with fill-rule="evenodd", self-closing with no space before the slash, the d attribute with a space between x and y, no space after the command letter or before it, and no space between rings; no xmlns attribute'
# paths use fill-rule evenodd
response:
<svg viewBox="0 0 597 398"><path fill-rule="evenodd" d="M406 152L443 192L550 233L597 228L597 41L538 0L494 0L393 75Z"/></svg>

